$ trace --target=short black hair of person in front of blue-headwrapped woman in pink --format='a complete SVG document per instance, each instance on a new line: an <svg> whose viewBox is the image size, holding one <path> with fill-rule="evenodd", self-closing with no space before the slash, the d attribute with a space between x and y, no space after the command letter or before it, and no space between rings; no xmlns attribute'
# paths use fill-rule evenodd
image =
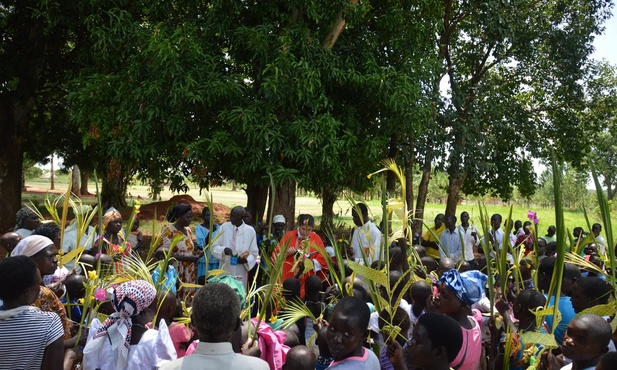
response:
<svg viewBox="0 0 617 370"><path fill-rule="evenodd" d="M426 330L433 348L443 347L448 362L454 361L463 346L463 330L456 320L441 313L427 312L418 318L416 325Z"/></svg>

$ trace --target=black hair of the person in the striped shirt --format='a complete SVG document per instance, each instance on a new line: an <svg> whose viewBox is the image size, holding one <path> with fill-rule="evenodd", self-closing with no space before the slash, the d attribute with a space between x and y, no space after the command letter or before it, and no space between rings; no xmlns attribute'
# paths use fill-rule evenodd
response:
<svg viewBox="0 0 617 370"><path fill-rule="evenodd" d="M36 263L26 256L16 256L0 262L0 299L5 302L19 298L36 283Z"/></svg>

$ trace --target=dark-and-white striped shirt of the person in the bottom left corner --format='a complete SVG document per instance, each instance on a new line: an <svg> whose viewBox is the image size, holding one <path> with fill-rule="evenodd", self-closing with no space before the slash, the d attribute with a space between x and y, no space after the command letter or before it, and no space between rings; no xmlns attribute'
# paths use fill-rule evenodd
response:
<svg viewBox="0 0 617 370"><path fill-rule="evenodd" d="M62 338L60 317L36 307L0 310L0 369L40 369L45 348Z"/></svg>

